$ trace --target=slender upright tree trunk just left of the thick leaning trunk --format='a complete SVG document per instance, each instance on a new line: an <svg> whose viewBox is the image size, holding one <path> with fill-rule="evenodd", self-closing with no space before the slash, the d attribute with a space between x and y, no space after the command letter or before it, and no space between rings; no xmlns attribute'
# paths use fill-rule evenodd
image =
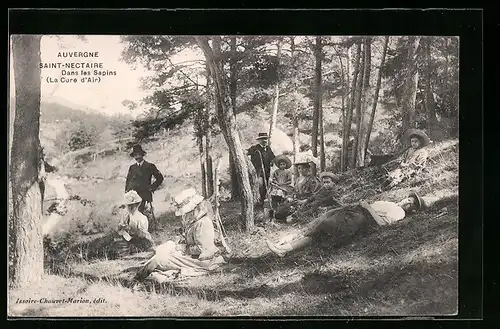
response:
<svg viewBox="0 0 500 329"><path fill-rule="evenodd" d="M207 73L207 104L205 106L205 163L207 170L207 195L211 197L214 193L214 171L212 160L212 110L215 108L214 104L214 86L210 74L210 68L206 68Z"/></svg>

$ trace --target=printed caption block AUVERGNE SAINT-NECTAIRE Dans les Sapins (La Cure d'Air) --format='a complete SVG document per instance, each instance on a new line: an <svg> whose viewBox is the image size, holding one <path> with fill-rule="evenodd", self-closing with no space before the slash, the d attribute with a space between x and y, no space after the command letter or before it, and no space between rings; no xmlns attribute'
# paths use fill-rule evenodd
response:
<svg viewBox="0 0 500 329"><path fill-rule="evenodd" d="M77 61L41 62L40 69L58 69L59 77L44 76L47 83L99 83L105 76L117 75L115 70L108 70L102 62L89 61L99 58L99 52L58 52L58 58L76 59Z"/></svg>

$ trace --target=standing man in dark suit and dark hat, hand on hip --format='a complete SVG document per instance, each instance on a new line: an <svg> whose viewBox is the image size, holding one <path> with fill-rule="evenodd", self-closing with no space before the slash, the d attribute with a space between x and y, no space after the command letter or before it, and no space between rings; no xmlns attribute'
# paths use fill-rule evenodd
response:
<svg viewBox="0 0 500 329"><path fill-rule="evenodd" d="M127 180L125 182L125 193L128 191L136 191L142 198L138 210L146 215L149 221L150 232L157 229L157 223L153 209L153 192L163 183L163 175L150 162L144 160L144 151L141 145L134 145L132 149L132 156L136 163L131 165L128 169ZM151 179L154 177L154 182Z"/></svg>

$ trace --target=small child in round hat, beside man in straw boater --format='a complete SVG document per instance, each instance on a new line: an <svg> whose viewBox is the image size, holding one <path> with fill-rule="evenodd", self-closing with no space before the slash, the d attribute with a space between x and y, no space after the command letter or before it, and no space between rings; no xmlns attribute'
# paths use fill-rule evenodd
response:
<svg viewBox="0 0 500 329"><path fill-rule="evenodd" d="M288 193L292 192L292 173L288 170L292 166L292 161L282 154L274 158L274 163L278 167L270 180L271 206L276 210L281 205Z"/></svg>

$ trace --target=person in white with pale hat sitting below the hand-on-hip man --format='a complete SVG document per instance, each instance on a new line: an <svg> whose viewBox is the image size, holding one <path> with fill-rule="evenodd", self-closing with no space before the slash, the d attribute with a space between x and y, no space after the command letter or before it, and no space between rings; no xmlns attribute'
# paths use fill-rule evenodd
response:
<svg viewBox="0 0 500 329"><path fill-rule="evenodd" d="M136 191L125 193L123 204L127 212L118 224L118 234L130 244L146 245L146 249L155 245L148 231L148 218L139 211L142 198Z"/></svg>

